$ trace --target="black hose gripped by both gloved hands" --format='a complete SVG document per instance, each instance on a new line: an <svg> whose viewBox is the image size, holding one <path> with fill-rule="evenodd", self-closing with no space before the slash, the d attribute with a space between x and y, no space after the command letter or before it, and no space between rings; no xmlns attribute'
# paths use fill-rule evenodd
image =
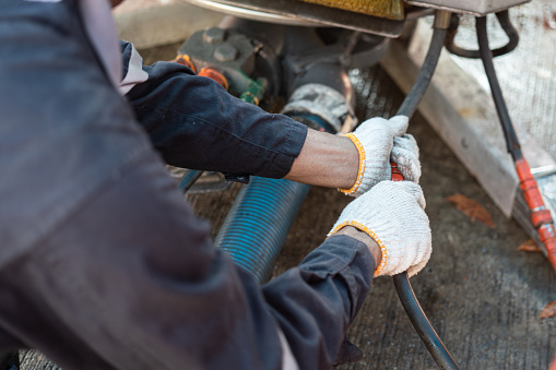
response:
<svg viewBox="0 0 556 370"><path fill-rule="evenodd" d="M435 27L425 62L421 68L413 87L398 110L398 115L412 117L416 111L417 106L425 95L425 92L430 83L436 65L438 63L440 51L442 50L446 39L446 28ZM411 287L407 272L394 275L393 282L405 313L407 313L413 327L415 327L415 331L419 335L421 339L438 366L441 369L459 369L458 363L452 358L442 341L436 333L435 329L428 321L425 312L421 308L421 305Z"/></svg>

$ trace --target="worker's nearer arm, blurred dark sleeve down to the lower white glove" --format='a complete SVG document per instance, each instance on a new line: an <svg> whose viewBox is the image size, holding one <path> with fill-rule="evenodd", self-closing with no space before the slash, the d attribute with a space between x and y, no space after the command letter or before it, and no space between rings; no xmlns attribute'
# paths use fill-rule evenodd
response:
<svg viewBox="0 0 556 370"><path fill-rule="evenodd" d="M403 202L374 204L380 188L353 201L348 219L376 230L388 255L414 255L413 230L428 229L411 217L418 205L403 187L385 196ZM149 155L0 271L10 297L0 319L69 369L329 369L385 258L364 232L343 227L261 287L212 246L209 225ZM409 264L392 258L383 271L423 262L402 260Z"/></svg>

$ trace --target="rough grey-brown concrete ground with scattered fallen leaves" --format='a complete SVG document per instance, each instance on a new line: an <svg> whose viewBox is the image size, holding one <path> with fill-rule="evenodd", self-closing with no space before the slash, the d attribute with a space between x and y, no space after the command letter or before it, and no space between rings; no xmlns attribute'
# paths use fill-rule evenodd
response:
<svg viewBox="0 0 556 370"><path fill-rule="evenodd" d="M180 43L142 50L147 62L168 60ZM546 73L545 73L546 74ZM359 118L391 116L403 99L380 67L352 71ZM416 115L410 132L421 147L422 186L433 230L433 256L412 278L413 289L436 331L462 369L546 369L556 354L556 317L540 319L556 300L554 272L541 253L519 251L529 237L505 217L427 121ZM201 217L222 225L239 186L188 195ZM446 199L464 194L495 223L472 222ZM348 198L312 188L286 239L274 274L295 266L323 239ZM403 311L391 278L374 282L350 332L365 358L341 370L436 369ZM22 353L22 369L58 369L37 351Z"/></svg>

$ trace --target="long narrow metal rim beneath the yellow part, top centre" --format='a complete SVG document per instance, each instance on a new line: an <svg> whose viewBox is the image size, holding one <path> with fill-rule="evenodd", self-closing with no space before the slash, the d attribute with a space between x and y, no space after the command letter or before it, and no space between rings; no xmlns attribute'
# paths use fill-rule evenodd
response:
<svg viewBox="0 0 556 370"><path fill-rule="evenodd" d="M216 10L218 4L232 7L236 9L234 15L244 15L245 17L262 22L273 22L273 19L277 21L276 23L284 23L287 20L291 20L293 24L297 22L310 22L323 26L350 28L385 37L399 37L402 34L404 25L404 21L386 20L298 0L184 1L203 8L211 7L212 10ZM230 9L228 8L227 10L229 11Z"/></svg>

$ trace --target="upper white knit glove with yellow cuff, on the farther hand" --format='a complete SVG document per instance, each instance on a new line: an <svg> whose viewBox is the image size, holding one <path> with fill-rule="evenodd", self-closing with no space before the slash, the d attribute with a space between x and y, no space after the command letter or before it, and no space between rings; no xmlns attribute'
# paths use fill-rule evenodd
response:
<svg viewBox="0 0 556 370"><path fill-rule="evenodd" d="M379 181L390 180L390 160L398 165L404 179L418 183L418 146L412 135L405 134L407 123L405 116L395 116L388 120L376 117L348 133L346 136L352 140L359 154L359 171L355 184L340 191L359 196Z"/></svg>

